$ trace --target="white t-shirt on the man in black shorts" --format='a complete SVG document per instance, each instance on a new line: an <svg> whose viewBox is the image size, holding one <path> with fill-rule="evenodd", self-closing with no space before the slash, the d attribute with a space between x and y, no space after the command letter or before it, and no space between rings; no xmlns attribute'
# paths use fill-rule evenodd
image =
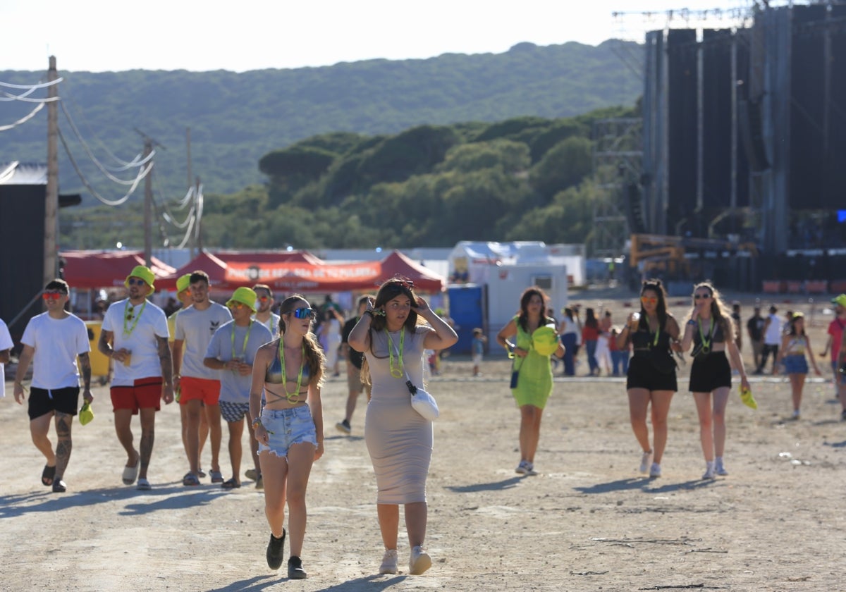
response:
<svg viewBox="0 0 846 592"><path fill-rule="evenodd" d="M20 343L36 350L32 357L32 386L47 390L80 386L76 358L91 351L88 327L76 315L53 319L49 313L33 316Z"/></svg>

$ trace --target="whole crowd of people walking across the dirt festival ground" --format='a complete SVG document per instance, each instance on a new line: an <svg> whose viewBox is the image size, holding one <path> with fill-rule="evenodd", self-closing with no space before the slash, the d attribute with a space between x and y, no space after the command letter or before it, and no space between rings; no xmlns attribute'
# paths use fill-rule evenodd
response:
<svg viewBox="0 0 846 592"><path fill-rule="evenodd" d="M156 414L178 403L188 472L182 484L200 485L202 450L211 447L207 476L225 490L242 486L244 426L249 434L251 466L244 476L263 489L270 530L266 562L282 567L288 539L288 578L306 578L304 548L306 492L313 463L323 455L321 387L327 375L347 372L349 395L336 428L352 432L358 398L366 392L364 435L376 476L376 518L384 555L379 573L398 573L399 507L403 507L409 542L409 573L431 567L426 551L428 506L426 479L431 463L431 418L412 400L425 387L430 352L453 346L458 336L440 310L432 310L415 293L414 283L393 278L376 294L358 299L354 315L344 319L327 297L322 307L299 294L275 303L271 288L256 284L233 291L225 304L210 298L209 277L195 271L179 277L179 310L169 317L149 299L156 277L146 266L129 271L126 298L104 311L96 348L111 360L110 398L115 433L126 453L121 469L124 485L151 489L148 479L155 440ZM27 403L30 433L45 458L41 483L67 491L65 474L73 448L71 427L91 394L90 343L85 323L69 313L69 285L47 283L42 296L47 311L30 319L21 339L23 349L14 375L14 399ZM724 460L726 408L733 375L750 390L740 354L742 320L739 305L729 306L711 282L697 283L689 311L677 320L668 310L659 280L643 282L640 308L623 326L614 326L609 310L597 314L578 306L563 310L558 321L541 288L526 288L517 313L497 332L497 343L512 359L510 389L519 408L519 462L516 473L535 475L541 418L553 390L555 366L575 375L580 346L585 346L588 372L625 375L629 422L641 448L640 472L662 476L667 448L667 418L678 392L678 359L692 359L687 390L695 402L704 480L728 475ZM846 294L832 299L835 318L820 353L830 356L831 369L846 420ZM276 312L274 312L276 308ZM754 314L745 323L754 354L755 374L766 371L789 378L794 418L799 419L805 377L821 374L805 332L805 318L788 311L784 322L773 306L770 315ZM320 325L317 325L321 320ZM473 331L473 374L480 374L486 338ZM13 347L0 321L0 370ZM32 365L27 397L24 379ZM2 373L0 373L2 378ZM80 386L81 380L81 386ZM136 444L134 417L140 436ZM231 477L224 478L220 449L222 419L228 428ZM651 419L651 421L647 421ZM650 435L650 427L652 433ZM55 426L55 446L50 437ZM287 528L286 528L287 514Z"/></svg>

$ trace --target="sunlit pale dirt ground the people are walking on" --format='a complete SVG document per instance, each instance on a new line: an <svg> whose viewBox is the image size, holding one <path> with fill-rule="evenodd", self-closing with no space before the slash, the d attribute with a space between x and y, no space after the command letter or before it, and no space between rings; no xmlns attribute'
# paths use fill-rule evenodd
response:
<svg viewBox="0 0 846 592"><path fill-rule="evenodd" d="M622 322L623 301L606 304ZM798 308L810 312L808 303ZM744 303L744 318L750 313ZM816 315L821 351L831 316ZM583 363L581 375L585 369ZM471 378L469 361L448 359L429 389L442 416L428 481L434 563L420 577L408 575L402 523L401 573L377 575L382 544L362 437L364 403L352 436L341 436L334 424L346 383L332 379L323 391L326 456L308 492L309 579L299 582L266 566L263 494L249 480L231 492L208 479L199 488L181 485L187 465L175 405L157 416L153 489L135 491L121 484L126 459L107 388L96 388L96 418L74 423L68 492L53 494L41 485L43 458L8 384L0 399L0 580L6 590L843 589L846 424L827 382L827 360L823 377L805 387L799 421L787 419L790 392L782 378L752 378L756 411L739 402L735 388L730 474L715 481L700 480L688 369L673 398L661 478L637 473L624 379L604 376L556 379L536 456L541 474L523 477L514 473L519 413L507 363L486 360L483 375ZM228 478L226 437L224 430ZM209 458L206 448L206 468Z"/></svg>

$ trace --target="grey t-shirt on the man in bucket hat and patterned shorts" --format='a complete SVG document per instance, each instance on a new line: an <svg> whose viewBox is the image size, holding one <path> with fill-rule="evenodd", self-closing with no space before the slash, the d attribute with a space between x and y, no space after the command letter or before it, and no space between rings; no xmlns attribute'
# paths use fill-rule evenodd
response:
<svg viewBox="0 0 846 592"><path fill-rule="evenodd" d="M235 321L229 321L211 336L211 343L206 348L206 358L217 358L224 362L240 358L241 361L251 365L255 360L255 352L271 340L270 332L261 324L261 321L252 321L249 326L236 326ZM220 400L228 403L249 403L253 376L250 374L242 376L232 370L218 371L220 372Z"/></svg>

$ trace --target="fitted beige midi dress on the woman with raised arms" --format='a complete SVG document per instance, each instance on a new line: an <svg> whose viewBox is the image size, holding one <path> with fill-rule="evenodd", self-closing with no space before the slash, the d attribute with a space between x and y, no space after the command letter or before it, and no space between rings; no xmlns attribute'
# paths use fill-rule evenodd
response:
<svg viewBox="0 0 846 592"><path fill-rule="evenodd" d="M423 341L430 326L405 331L404 369L415 386L423 386ZM393 338L394 367L398 365L400 332ZM391 375L387 333L371 332L371 348L365 352L370 365L373 394L367 404L365 442L376 473L376 503L426 502L426 475L431 463L432 426L411 407L409 389L402 378Z"/></svg>

